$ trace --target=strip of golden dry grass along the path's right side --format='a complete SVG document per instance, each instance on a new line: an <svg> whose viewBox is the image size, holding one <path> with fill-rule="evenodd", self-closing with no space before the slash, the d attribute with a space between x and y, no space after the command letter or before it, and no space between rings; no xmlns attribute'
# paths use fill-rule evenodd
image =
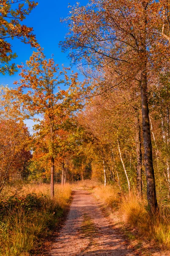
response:
<svg viewBox="0 0 170 256"><path fill-rule="evenodd" d="M94 195L110 212L119 212L122 221L133 227L140 238L155 241L165 250L170 249L170 209L159 205L159 212L151 216L147 211L147 200L136 192L120 194L115 186L96 186Z"/></svg>

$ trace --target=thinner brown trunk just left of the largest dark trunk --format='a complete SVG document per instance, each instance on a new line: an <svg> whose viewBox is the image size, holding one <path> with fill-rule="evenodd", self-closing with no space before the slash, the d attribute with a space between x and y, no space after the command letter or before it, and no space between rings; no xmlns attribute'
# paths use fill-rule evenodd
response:
<svg viewBox="0 0 170 256"><path fill-rule="evenodd" d="M136 189L139 196L142 196L142 151L141 151L141 130L139 123L139 113L136 116L136 154L137 154L137 172Z"/></svg>

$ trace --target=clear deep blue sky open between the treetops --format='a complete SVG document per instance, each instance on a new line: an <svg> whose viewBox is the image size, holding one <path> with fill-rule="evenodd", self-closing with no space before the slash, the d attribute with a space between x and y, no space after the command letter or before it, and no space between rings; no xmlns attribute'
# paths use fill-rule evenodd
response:
<svg viewBox="0 0 170 256"><path fill-rule="evenodd" d="M63 41L68 28L60 22L60 18L68 16L68 3L73 6L76 0L37 0L38 6L24 20L24 24L33 27L34 34L47 58L54 54L54 60L59 66L64 64L70 66L71 60L67 58L68 53L62 53L59 48L59 41ZM86 5L88 0L79 0L80 5ZM18 58L15 63L25 63L29 59L34 49L29 45L21 43L19 40L11 40L13 51L17 53ZM76 72L76 67L73 68ZM18 80L18 73L13 76L0 75L0 84L8 84L9 87L15 87L13 82ZM81 79L81 78L80 78Z"/></svg>

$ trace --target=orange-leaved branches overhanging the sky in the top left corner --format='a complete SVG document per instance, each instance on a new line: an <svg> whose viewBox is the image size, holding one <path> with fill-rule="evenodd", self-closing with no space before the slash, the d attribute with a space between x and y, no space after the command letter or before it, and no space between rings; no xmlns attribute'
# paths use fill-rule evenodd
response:
<svg viewBox="0 0 170 256"><path fill-rule="evenodd" d="M37 4L32 0L0 1L0 73L13 75L17 71L14 63L9 64L17 55L13 53L8 38L18 38L25 44L31 44L31 47L37 47L33 28L22 24Z"/></svg>

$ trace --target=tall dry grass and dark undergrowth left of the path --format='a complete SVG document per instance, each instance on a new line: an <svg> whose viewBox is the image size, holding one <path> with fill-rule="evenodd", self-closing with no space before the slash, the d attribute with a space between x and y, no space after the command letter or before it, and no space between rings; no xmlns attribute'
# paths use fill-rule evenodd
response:
<svg viewBox="0 0 170 256"><path fill-rule="evenodd" d="M9 192L10 194L10 192ZM38 255L39 247L59 223L71 196L71 186L27 185L0 201L0 256Z"/></svg>

